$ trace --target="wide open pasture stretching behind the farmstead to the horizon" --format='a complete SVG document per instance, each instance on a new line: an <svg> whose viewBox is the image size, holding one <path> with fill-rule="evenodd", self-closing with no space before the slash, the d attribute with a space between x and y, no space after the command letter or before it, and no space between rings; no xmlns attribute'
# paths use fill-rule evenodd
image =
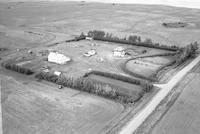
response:
<svg viewBox="0 0 200 134"><path fill-rule="evenodd" d="M97 4L80 2L9 2L0 4L1 45L43 46L90 29L124 37L137 34L167 45L185 46L199 41L200 11L169 6ZM58 8L59 7L59 8ZM167 22L183 22L184 28L166 28ZM22 40L22 41L20 41ZM44 41L45 40L45 41Z"/></svg>

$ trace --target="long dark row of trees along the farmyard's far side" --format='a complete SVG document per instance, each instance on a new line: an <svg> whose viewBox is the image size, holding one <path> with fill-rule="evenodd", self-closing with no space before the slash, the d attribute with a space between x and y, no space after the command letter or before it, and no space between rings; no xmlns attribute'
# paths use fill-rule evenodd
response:
<svg viewBox="0 0 200 134"><path fill-rule="evenodd" d="M100 30L90 30L87 33L87 35L84 35L84 33L81 33L80 35L80 37L86 37L86 36L92 37L94 40L109 41L109 42L137 45L143 47L152 47L152 48L171 50L171 51L176 51L180 49L175 45L167 46L167 45L161 45L159 43L153 43L150 38L147 38L144 41L142 41L141 37L137 35L129 35L128 37L119 38L117 36L113 36L112 33L106 33L105 31L100 31Z"/></svg>

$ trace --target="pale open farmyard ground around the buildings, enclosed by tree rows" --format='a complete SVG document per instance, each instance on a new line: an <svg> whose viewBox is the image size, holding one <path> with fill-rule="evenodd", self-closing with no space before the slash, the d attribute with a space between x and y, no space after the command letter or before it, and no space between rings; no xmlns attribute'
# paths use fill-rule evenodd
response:
<svg viewBox="0 0 200 134"><path fill-rule="evenodd" d="M113 53L115 48L117 47L123 47L126 50L126 52L129 53L129 55L125 55L124 57L114 56ZM45 61L44 59L48 58L48 54L50 53L49 51L51 50L65 54L72 60L65 65L59 65ZM91 50L95 50L96 54L90 57L84 55L86 52ZM144 50L146 52L142 53L142 51ZM28 67L28 68L30 67L35 71L40 71L40 69L45 66L48 67L50 70L61 71L67 76L80 77L92 70L129 75L125 73L121 68L121 64L124 64L126 60L130 58L137 58L139 56L148 56L148 55L151 56L157 54L159 55L170 52L167 50L129 46L125 44L110 43L110 42L96 41L96 40L93 41L81 40L78 42L66 42L66 43L56 44L54 46L50 46L47 48L41 48L39 50L38 48L34 48L32 49L32 51L34 52L33 54L29 54L28 50L26 50L24 52L20 52L20 54L16 53L6 58L8 59L10 58L13 63L17 63L22 67ZM144 59L145 62L148 62L145 64L146 71L153 73L152 72L153 68L155 72L155 70L158 69L160 65L165 65L168 62L172 61L172 58L170 58L170 56L168 57L169 57L168 59L164 60L163 58L159 57L145 58ZM146 59L148 59L149 61L150 60L155 61L155 59L157 59L157 61L159 60L158 62L162 63L158 63L159 65L156 65L157 63L150 64L150 62L147 61ZM142 63L139 62L137 63L138 64L135 63L135 66L141 65L140 67L142 68ZM134 67L132 60L127 63L127 68L129 68L130 66L134 69L137 69L137 67L136 68ZM143 72L144 70L141 70L141 72ZM133 71L135 73L140 74L140 72L137 72L136 70ZM146 73L146 75L148 76L148 73Z"/></svg>

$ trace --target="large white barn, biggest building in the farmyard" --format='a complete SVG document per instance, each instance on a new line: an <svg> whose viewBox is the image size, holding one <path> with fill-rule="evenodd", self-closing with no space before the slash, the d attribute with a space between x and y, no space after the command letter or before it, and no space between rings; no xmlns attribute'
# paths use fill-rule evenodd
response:
<svg viewBox="0 0 200 134"><path fill-rule="evenodd" d="M69 57L66 57L65 55L58 52L50 52L48 55L48 61L57 64L66 64L70 60L71 59Z"/></svg>

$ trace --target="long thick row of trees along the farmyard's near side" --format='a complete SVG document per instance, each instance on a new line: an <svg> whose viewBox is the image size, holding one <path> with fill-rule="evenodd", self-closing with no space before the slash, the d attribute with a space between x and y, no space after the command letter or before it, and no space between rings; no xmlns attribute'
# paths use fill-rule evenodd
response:
<svg viewBox="0 0 200 134"><path fill-rule="evenodd" d="M135 101L135 99L132 96L119 93L111 85L100 83L86 77L80 77L75 79L73 77L57 76L52 73L46 72L40 72L36 74L35 77L38 79L43 79L59 85L63 85L65 87L85 91L88 93L93 93L109 99L118 100L126 104Z"/></svg>

